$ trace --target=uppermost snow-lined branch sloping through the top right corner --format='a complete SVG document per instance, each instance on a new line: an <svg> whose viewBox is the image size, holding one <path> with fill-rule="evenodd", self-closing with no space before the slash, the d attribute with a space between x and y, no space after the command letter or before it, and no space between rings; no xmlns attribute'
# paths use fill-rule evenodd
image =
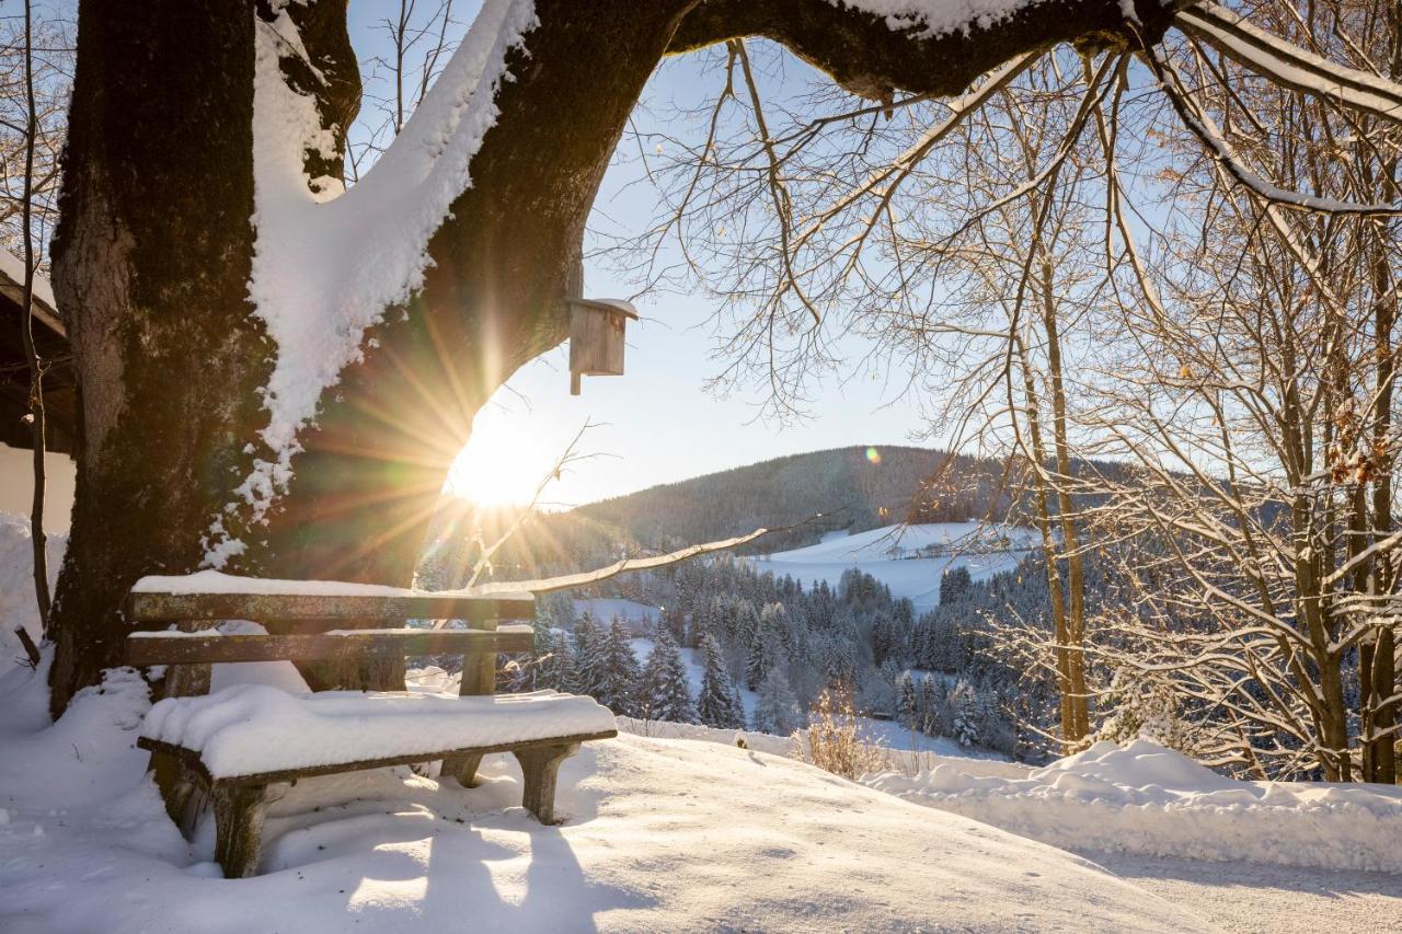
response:
<svg viewBox="0 0 1402 934"><path fill-rule="evenodd" d="M1336 65L1204 3L1178 14L1178 25L1238 65L1295 91L1402 123L1402 84Z"/></svg>

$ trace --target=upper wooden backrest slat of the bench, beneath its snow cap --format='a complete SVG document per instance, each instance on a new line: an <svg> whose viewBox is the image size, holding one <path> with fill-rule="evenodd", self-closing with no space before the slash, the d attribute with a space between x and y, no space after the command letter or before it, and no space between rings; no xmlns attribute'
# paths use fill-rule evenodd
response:
<svg viewBox="0 0 1402 934"><path fill-rule="evenodd" d="M307 593L156 593L126 596L126 616L137 623L177 620L328 620L338 628L345 620L530 620L536 597L502 596L366 596Z"/></svg>

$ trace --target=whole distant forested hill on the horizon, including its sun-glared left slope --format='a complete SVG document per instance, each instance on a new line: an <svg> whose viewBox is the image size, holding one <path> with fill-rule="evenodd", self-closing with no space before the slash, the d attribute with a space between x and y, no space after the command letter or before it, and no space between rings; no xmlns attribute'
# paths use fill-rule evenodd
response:
<svg viewBox="0 0 1402 934"><path fill-rule="evenodd" d="M1007 515L1002 464L923 447L838 447L789 454L614 496L564 513L540 513L492 557L499 576L526 579L597 568L624 554L674 550L788 529L746 551L812 544L824 532L866 532L899 522L963 522ZM997 502L990 502L997 496ZM460 586L478 554L513 524L512 510L478 510L444 496L425 554L435 586ZM432 568L432 569L430 569Z"/></svg>

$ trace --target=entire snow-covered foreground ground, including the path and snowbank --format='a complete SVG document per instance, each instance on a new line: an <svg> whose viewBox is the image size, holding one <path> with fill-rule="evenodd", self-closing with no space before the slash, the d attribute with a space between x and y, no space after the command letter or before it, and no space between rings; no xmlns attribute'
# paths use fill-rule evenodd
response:
<svg viewBox="0 0 1402 934"><path fill-rule="evenodd" d="M25 523L0 516L0 638L32 621L28 544ZM407 769L304 780L271 806L262 875L224 881L207 815L186 843L144 777L144 683L111 672L50 724L45 673L13 658L0 656L7 934L467 917L523 931L1312 933L1402 919L1402 791L1239 783L1144 742L1036 770L897 750L862 787L795 762L785 738L744 733L740 747L735 731L627 719L634 735L561 771L562 827L519 806L506 756L472 791ZM422 680L450 687L442 672ZM237 684L304 690L286 663L215 666L213 690Z"/></svg>

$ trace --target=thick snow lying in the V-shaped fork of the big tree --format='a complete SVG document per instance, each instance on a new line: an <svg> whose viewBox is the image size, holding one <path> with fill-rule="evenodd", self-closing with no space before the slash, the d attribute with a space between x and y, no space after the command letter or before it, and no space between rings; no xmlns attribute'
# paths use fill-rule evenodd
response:
<svg viewBox="0 0 1402 934"><path fill-rule="evenodd" d="M536 25L533 0L486 0L443 74L394 143L359 184L307 178L304 157L335 144L313 97L290 87L283 57L306 59L286 10L257 21L254 72L254 226L248 297L276 344L264 387L268 447L238 487L251 523L265 522L292 480L297 432L321 394L360 359L369 327L423 283L428 244L471 187L470 164L495 123L506 55ZM206 564L243 551L215 522Z"/></svg>

